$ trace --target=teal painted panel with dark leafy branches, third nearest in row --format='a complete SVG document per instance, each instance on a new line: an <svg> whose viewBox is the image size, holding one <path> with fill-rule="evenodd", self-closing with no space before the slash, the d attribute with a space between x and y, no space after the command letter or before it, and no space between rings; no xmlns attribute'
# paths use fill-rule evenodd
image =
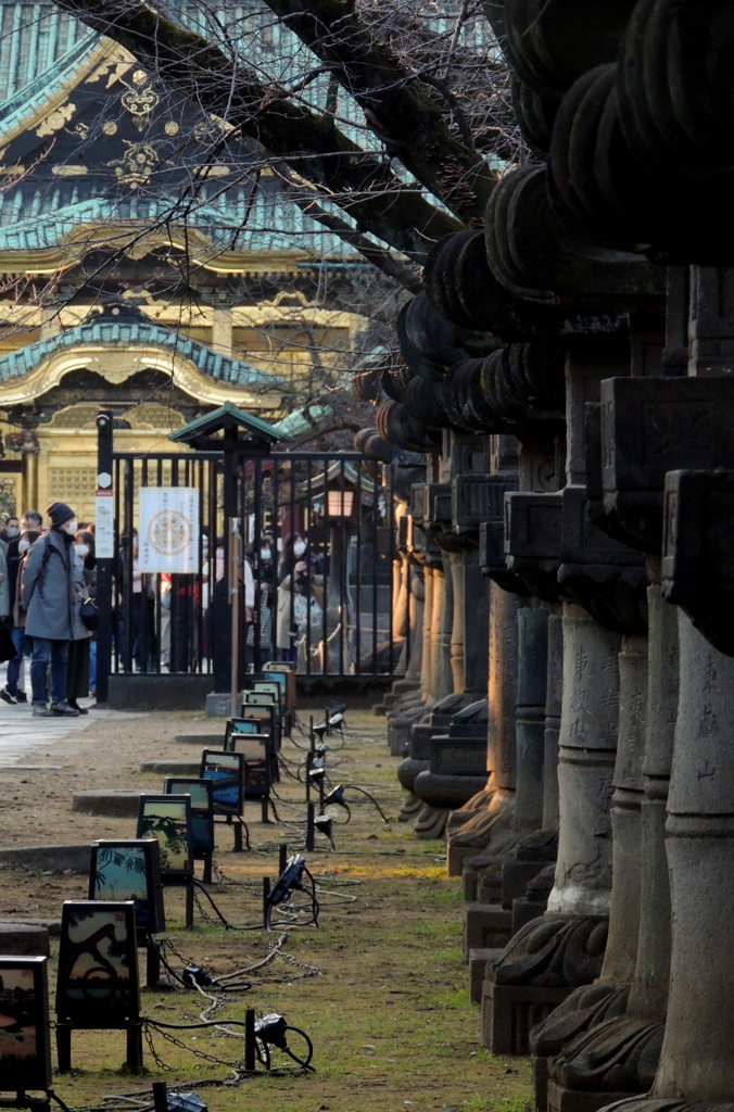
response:
<svg viewBox="0 0 734 1112"><path fill-rule="evenodd" d="M153 861L153 852L158 861ZM166 930L162 901L156 886L160 883L158 840L140 842L92 843L89 898L135 901L138 934Z"/></svg>

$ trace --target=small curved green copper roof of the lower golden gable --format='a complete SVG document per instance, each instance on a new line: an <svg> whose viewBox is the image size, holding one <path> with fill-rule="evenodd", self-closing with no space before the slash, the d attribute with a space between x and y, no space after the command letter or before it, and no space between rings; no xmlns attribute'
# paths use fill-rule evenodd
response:
<svg viewBox="0 0 734 1112"><path fill-rule="evenodd" d="M111 308L110 308L111 306ZM120 347L140 346L158 347L172 355L181 356L195 364L198 369L208 378L217 383L228 384L235 387L241 386L267 386L284 389L286 381L258 370L250 364L241 363L238 359L228 359L197 344L196 340L181 336L180 332L171 331L155 325L130 302L110 302L101 311L97 311L93 317L88 317L76 328L67 328L56 336L46 340L38 340L29 344L28 347L18 351L9 351L0 358L0 383L20 378L28 375L38 365L57 351L66 348L99 345ZM119 316L115 316L117 308ZM255 419L255 418L251 418Z"/></svg>

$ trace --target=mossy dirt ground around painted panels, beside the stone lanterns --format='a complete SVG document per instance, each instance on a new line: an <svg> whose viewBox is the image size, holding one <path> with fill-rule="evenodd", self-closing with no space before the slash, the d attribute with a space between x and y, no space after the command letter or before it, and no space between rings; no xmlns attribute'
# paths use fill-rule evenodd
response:
<svg viewBox="0 0 734 1112"><path fill-rule="evenodd" d="M56 1072L53 1054L54 1090L69 1108L150 1106L151 1082L162 1080L169 1090L199 1093L212 1112L529 1112L527 1061L497 1060L480 1046L479 1011L468 1003L460 956L459 882L446 876L442 845L418 842L395 822L401 791L385 722L359 713L348 714L347 723L344 746L339 736L328 743L330 782L366 788L390 821L347 790L351 820L335 824L336 851L317 838L306 854L321 905L318 925L289 923L271 934L261 927L262 876L277 876L280 842L289 852L304 842L305 790L287 774L297 774L305 757L305 738L295 732L284 744L289 763L277 786L280 823L262 825L259 806L247 804L252 848L242 854L232 852L231 831L217 828L217 883L209 892L230 929L201 895L195 930L186 931L182 892L165 894L171 969L194 962L230 985L251 987L215 987L208 996L180 986L142 991L141 1014L151 1023L195 1024L204 1014L241 1021L248 1007L257 1015L279 1012L313 1040L313 1071L294 1073L294 1063L274 1052L275 1072L238 1081L237 1031L176 1031L173 1043L151 1025L146 1072L130 1076L121 1069L122 1032L78 1032L70 1075ZM224 734L221 721L202 715L95 721L92 712L81 733L23 752L18 767L0 767L0 848L135 837L135 820L72 812L72 794L97 787L160 792L161 777L141 774L140 763L196 759L198 747L176 736L212 727ZM62 901L86 898L87 884L75 873L0 868L0 917L59 919ZM52 1019L54 959L52 944Z"/></svg>

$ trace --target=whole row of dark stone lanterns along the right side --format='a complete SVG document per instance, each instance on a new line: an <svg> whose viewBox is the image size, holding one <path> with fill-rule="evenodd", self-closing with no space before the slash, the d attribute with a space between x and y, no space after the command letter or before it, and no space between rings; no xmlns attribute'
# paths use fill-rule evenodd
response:
<svg viewBox="0 0 734 1112"><path fill-rule="evenodd" d="M432 252L378 410L429 453L404 817L538 1109L731 1110L734 10L502 8L537 160Z"/></svg>

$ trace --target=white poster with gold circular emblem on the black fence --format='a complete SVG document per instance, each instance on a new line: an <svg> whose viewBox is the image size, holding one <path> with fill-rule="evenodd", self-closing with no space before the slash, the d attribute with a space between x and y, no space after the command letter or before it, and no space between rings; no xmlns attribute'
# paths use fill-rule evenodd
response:
<svg viewBox="0 0 734 1112"><path fill-rule="evenodd" d="M140 490L140 572L199 570L199 488Z"/></svg>

